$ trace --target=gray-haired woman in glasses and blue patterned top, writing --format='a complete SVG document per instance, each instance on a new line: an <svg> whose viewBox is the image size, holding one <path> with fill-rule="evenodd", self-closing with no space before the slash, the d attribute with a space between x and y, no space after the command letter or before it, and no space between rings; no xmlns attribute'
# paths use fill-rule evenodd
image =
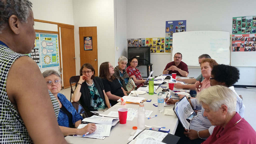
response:
<svg viewBox="0 0 256 144"><path fill-rule="evenodd" d="M59 73L55 70L46 70L42 75L45 78L48 89L59 102L60 111L57 120L63 135L84 135L87 132L93 133L96 130L95 124L88 124L84 128L76 129L81 124L83 118L77 113L66 96L59 93L61 88Z"/></svg>

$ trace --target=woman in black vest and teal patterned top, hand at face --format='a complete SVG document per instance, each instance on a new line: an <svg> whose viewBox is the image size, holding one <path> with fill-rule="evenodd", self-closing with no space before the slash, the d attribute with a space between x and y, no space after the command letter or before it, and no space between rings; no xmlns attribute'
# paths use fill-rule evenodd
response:
<svg viewBox="0 0 256 144"><path fill-rule="evenodd" d="M95 69L91 64L82 65L80 79L71 99L78 101L86 111L104 111L110 108L109 99L101 78L94 75Z"/></svg>

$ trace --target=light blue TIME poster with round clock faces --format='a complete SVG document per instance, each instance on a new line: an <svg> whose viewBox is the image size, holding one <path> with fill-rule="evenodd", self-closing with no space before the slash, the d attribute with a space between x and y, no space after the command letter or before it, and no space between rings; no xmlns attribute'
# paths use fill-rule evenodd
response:
<svg viewBox="0 0 256 144"><path fill-rule="evenodd" d="M42 68L59 66L58 35L40 34Z"/></svg>

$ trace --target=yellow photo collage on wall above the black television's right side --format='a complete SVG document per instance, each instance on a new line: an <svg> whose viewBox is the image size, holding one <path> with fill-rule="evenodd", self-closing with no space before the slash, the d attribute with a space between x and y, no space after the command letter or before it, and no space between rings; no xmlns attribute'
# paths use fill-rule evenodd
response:
<svg viewBox="0 0 256 144"><path fill-rule="evenodd" d="M146 38L146 46L150 46L150 53L164 53L164 37Z"/></svg>

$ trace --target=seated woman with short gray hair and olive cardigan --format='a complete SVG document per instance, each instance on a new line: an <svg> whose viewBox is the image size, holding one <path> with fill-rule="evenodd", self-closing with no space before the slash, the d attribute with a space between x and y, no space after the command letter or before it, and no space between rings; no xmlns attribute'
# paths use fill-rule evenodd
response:
<svg viewBox="0 0 256 144"><path fill-rule="evenodd" d="M127 74L125 67L127 65L128 59L125 56L121 56L118 58L118 66L114 68L115 73L113 76L119 81L121 86L124 88L125 91L126 85L129 82L129 75Z"/></svg>

